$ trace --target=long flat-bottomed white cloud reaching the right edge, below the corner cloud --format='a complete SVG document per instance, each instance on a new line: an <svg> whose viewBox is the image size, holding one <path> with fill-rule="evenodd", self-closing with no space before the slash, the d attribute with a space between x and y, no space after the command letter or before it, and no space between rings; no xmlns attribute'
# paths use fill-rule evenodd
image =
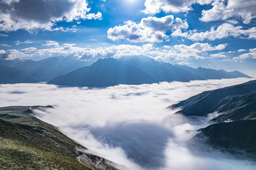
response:
<svg viewBox="0 0 256 170"><path fill-rule="evenodd" d="M210 31L206 32L182 32L181 29L177 29L171 34L171 36L184 37L193 41L203 41L205 39L213 41L229 36L256 39L256 27L249 29L242 28L242 26L235 27L232 24L224 23L218 26L216 29L211 28Z"/></svg>

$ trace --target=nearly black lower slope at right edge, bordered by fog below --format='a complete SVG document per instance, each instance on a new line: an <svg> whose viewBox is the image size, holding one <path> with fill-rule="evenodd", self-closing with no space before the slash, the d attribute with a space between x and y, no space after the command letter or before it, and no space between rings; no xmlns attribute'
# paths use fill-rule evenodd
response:
<svg viewBox="0 0 256 170"><path fill-rule="evenodd" d="M232 153L249 153L256 156L256 120L218 123L199 130L192 143L207 143L214 148Z"/></svg>

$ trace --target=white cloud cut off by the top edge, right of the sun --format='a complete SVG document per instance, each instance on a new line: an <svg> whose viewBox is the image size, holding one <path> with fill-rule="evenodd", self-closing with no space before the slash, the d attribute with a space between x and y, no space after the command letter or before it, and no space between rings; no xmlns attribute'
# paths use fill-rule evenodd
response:
<svg viewBox="0 0 256 170"><path fill-rule="evenodd" d="M146 14L156 14L160 11L164 12L188 12L193 10L191 5L199 3L205 5L211 3L212 0L146 0L144 3Z"/></svg>

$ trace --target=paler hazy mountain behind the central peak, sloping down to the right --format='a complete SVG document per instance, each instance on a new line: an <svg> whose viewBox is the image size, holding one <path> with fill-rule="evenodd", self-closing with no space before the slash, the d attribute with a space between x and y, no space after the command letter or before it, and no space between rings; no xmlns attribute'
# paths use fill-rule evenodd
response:
<svg viewBox="0 0 256 170"><path fill-rule="evenodd" d="M158 82L189 82L190 80L204 80L204 78L176 67L171 63L158 62L150 57L122 57L119 61L141 69L152 78L158 80Z"/></svg>

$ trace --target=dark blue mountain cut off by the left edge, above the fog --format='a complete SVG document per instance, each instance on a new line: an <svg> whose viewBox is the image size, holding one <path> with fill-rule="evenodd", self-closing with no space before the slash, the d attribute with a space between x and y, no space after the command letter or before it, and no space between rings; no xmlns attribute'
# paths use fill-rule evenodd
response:
<svg viewBox="0 0 256 170"><path fill-rule="evenodd" d="M34 83L37 82L32 76L14 69L0 65L0 84L13 84L13 83Z"/></svg>

